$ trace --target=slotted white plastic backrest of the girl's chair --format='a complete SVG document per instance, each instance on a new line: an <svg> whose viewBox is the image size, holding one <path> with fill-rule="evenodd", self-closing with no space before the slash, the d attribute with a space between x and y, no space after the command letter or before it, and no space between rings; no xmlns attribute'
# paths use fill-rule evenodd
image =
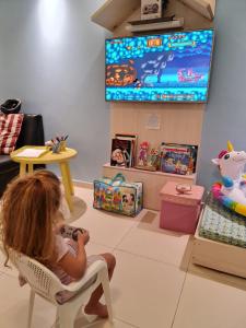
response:
<svg viewBox="0 0 246 328"><path fill-rule="evenodd" d="M10 260L37 294L57 303L56 294L63 291L65 286L52 271L28 256L12 249Z"/></svg>

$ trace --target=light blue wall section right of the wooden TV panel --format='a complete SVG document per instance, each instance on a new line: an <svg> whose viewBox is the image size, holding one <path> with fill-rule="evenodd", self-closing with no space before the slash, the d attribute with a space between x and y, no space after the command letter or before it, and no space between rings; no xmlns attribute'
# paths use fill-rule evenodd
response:
<svg viewBox="0 0 246 328"><path fill-rule="evenodd" d="M204 114L198 183L220 175L211 163L230 139L246 151L246 1L218 0L210 98Z"/></svg>

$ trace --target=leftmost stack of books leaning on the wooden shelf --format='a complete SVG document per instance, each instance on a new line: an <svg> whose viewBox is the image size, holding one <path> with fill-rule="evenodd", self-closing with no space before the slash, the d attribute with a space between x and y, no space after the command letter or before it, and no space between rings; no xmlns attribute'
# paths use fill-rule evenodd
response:
<svg viewBox="0 0 246 328"><path fill-rule="evenodd" d="M110 165L120 167L134 166L136 134L116 133L112 139Z"/></svg>

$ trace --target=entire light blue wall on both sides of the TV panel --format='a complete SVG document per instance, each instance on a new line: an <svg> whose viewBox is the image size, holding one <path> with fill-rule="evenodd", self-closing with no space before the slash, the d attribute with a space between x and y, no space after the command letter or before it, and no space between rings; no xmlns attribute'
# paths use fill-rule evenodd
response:
<svg viewBox="0 0 246 328"><path fill-rule="evenodd" d="M104 0L0 0L0 99L42 113L46 138L69 133L73 177L92 180L109 154L104 102L105 31L91 23ZM210 99L198 183L219 178L210 160L227 139L246 150L246 1L218 0Z"/></svg>

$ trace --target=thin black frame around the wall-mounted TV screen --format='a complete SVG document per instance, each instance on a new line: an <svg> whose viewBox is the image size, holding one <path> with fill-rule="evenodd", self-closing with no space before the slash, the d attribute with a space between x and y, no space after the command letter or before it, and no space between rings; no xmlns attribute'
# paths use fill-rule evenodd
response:
<svg viewBox="0 0 246 328"><path fill-rule="evenodd" d="M136 37L143 37L143 36L157 36L157 35L172 35L172 34L177 34L177 33L186 33L186 32L199 32L199 31L213 31L213 38L212 38L212 49L211 49L211 57L210 57L210 65L209 65L209 80L208 80L208 90L206 94L206 101L196 101L196 102L190 102L190 101L108 101L106 98L106 42L113 40L113 39L120 39L120 38L136 38ZM137 104L207 104L209 101L209 90L210 90L210 79L211 79L211 66L212 66L212 57L213 57L213 46L214 46L214 28L195 28L195 30L183 30L183 31L172 31L169 33L154 33L154 34L144 34L144 35L129 35L129 36L118 36L118 37L108 37L105 38L105 44L104 44L104 51L105 51L105 102L106 103L137 103Z"/></svg>

